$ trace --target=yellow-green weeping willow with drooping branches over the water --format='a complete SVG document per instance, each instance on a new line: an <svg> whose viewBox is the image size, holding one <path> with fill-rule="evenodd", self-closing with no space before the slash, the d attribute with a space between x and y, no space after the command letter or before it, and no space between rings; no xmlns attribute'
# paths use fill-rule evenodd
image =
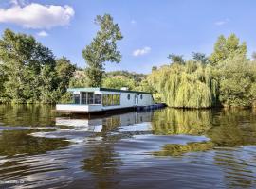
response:
<svg viewBox="0 0 256 189"><path fill-rule="evenodd" d="M148 77L161 100L176 108L210 108L216 104L218 83L210 65L196 61L165 65Z"/></svg>

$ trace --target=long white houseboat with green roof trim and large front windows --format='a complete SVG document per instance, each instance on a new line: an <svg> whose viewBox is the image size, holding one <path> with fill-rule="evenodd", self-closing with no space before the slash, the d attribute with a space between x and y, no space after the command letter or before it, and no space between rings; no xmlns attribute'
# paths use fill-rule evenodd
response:
<svg viewBox="0 0 256 189"><path fill-rule="evenodd" d="M67 91L72 93L73 103L57 104L57 112L105 112L155 104L152 94L129 91L126 88L70 88Z"/></svg>

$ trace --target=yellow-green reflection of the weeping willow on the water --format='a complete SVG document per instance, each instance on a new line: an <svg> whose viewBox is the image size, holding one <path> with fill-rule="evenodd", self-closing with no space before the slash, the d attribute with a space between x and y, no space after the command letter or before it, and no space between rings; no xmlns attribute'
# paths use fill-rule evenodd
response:
<svg viewBox="0 0 256 189"><path fill-rule="evenodd" d="M210 110L180 110L166 108L154 112L152 126L155 134L201 135L210 129Z"/></svg>

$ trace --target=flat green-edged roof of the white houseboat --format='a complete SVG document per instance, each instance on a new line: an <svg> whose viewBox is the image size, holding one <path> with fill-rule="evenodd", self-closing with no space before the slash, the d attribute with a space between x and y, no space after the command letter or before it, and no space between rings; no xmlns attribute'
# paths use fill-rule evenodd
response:
<svg viewBox="0 0 256 189"><path fill-rule="evenodd" d="M121 93L134 93L134 94L151 94L147 92L138 92L138 91L130 91L130 90L120 90L120 89L111 89L111 88L103 88L103 87L85 87L85 88L68 88L68 92L121 92Z"/></svg>

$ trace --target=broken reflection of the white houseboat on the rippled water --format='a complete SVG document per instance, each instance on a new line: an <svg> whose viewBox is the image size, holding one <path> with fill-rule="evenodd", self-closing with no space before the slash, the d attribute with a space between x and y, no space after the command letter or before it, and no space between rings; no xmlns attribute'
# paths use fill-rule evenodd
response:
<svg viewBox="0 0 256 189"><path fill-rule="evenodd" d="M106 131L151 131L153 112L126 112L101 117L56 117L56 126L73 127L75 130L90 132ZM142 125L139 125L144 123Z"/></svg>

